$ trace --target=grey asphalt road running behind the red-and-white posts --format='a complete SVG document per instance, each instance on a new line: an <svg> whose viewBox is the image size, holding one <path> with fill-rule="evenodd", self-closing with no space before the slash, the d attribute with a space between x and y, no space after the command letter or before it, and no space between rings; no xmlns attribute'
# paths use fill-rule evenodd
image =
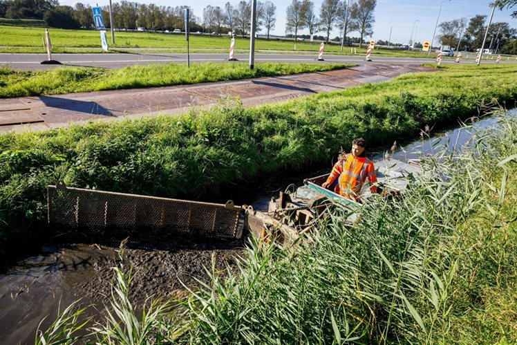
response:
<svg viewBox="0 0 517 345"><path fill-rule="evenodd" d="M227 54L196 53L190 55L190 62L223 62L227 59ZM241 63L248 63L249 55L236 54L236 59ZM187 54L167 54L167 53L125 53L125 54L53 54L52 58L61 62L65 66L95 66L103 68L120 68L135 64L164 64L164 63L187 63ZM323 57L325 62L343 62L352 64L364 64L364 56L339 56L326 55ZM55 68L59 65L41 64L46 60L46 54L0 54L0 65L10 66L17 70L34 71L48 68ZM435 62L435 58L408 58L408 57L376 57L372 55L372 64L382 62L384 64L424 64ZM255 62L317 62L317 55L297 55L297 54L256 54ZM473 64L473 60L462 60L463 63ZM515 62L502 59L502 63ZM319 62L321 63L321 62ZM442 58L442 64L455 63L452 58ZM493 60L483 61L482 63L493 64Z"/></svg>

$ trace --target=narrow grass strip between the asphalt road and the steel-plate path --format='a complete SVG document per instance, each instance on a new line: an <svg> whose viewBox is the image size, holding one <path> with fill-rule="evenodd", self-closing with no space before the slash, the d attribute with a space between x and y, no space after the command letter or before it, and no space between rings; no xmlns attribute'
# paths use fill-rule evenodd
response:
<svg viewBox="0 0 517 345"><path fill-rule="evenodd" d="M192 64L190 68L184 64L151 64L109 70L59 67L50 71L15 71L0 67L0 98L221 82L333 71L353 65L259 63L255 66L253 71L247 64L212 62Z"/></svg>

